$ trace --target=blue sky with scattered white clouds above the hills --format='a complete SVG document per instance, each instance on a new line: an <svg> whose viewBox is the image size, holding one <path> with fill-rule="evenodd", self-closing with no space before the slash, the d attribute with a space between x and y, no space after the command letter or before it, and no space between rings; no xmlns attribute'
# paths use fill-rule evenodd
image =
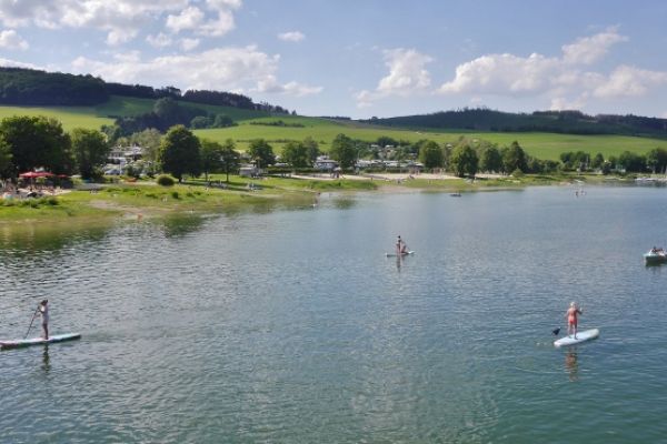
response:
<svg viewBox="0 0 667 444"><path fill-rule="evenodd" d="M307 115L667 118L667 1L0 0L0 64Z"/></svg>

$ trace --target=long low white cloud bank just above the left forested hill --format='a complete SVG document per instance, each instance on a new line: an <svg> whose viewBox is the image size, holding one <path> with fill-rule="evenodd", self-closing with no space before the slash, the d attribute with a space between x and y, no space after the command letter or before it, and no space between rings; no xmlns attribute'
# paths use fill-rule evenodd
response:
<svg viewBox="0 0 667 444"><path fill-rule="evenodd" d="M112 61L80 57L72 62L74 72L92 73L108 81L153 85L173 84L183 90L260 91L290 95L313 94L319 87L276 80L278 56L257 47L220 48L195 54L166 56L141 61L137 52L116 56Z"/></svg>

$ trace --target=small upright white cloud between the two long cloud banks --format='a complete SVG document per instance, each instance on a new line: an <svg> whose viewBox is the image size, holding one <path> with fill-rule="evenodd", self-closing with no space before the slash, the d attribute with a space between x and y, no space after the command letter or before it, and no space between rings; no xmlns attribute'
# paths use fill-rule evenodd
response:
<svg viewBox="0 0 667 444"><path fill-rule="evenodd" d="M356 94L357 107L367 108L371 102L389 97L410 97L427 92L430 88L430 73L425 65L432 59L414 49L385 51L385 64L389 74L380 79L375 91L364 90Z"/></svg>

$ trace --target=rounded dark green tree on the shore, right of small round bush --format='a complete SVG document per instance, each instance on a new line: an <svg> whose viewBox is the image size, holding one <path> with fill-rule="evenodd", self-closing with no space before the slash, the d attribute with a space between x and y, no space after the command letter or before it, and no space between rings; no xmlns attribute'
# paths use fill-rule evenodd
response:
<svg viewBox="0 0 667 444"><path fill-rule="evenodd" d="M160 144L159 161L162 170L170 173L179 183L183 174L200 173L199 139L183 125L172 127Z"/></svg>

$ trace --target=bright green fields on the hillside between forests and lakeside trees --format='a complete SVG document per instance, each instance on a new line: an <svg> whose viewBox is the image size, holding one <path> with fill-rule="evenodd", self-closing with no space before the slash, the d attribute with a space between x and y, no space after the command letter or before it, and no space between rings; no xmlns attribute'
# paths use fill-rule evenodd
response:
<svg viewBox="0 0 667 444"><path fill-rule="evenodd" d="M107 103L97 107L0 107L0 119L17 115L47 115L62 122L66 131L73 128L99 129L102 124L111 124L110 115L132 115L148 112L152 109L153 101L149 99L135 99L112 97ZM266 117L266 112L239 110L227 107L191 104L202 108L211 113L229 115L236 127L225 129L196 130L195 133L203 139L225 141L232 139L239 150L245 150L252 139L266 139L280 153L286 142L303 140L311 137L322 151L328 151L334 138L344 133L352 139L372 142L386 135L396 140L416 142L421 139L431 139L438 143L455 143L460 135L469 139L481 139L506 147L512 141L519 144L532 157L538 159L557 160L561 152L584 151L595 155L600 152L605 158L618 155L623 151L646 153L654 148L667 149L667 140L634 138L625 135L575 135L555 133L499 133L499 132L469 132L469 131L415 131L386 127L362 124L354 121L334 121L319 118L275 115ZM287 125L250 124L283 121Z"/></svg>

